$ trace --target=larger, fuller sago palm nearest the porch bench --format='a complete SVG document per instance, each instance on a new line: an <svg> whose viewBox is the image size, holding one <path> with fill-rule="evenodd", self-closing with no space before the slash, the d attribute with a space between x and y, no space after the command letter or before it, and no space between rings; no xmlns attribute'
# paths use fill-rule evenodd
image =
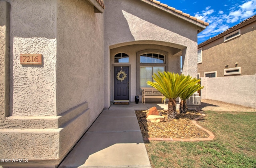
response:
<svg viewBox="0 0 256 168"><path fill-rule="evenodd" d="M160 91L168 102L168 119L174 119L177 115L176 98L189 88L189 83L185 82L190 77L172 72L158 72L152 76L156 82L148 81L147 84Z"/></svg>

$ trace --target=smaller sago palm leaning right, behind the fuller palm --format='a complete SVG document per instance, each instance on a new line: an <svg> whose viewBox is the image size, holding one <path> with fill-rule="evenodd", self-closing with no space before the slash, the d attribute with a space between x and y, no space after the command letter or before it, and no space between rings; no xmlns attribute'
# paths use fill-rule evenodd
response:
<svg viewBox="0 0 256 168"><path fill-rule="evenodd" d="M186 100L192 96L192 94L194 94L194 92L201 90L202 88L204 88L204 86L201 86L201 84L199 84L200 79L196 79L196 78L192 78L190 77L187 81L189 85L189 88L187 90L185 90L182 94L180 94L180 113L186 113L187 112L187 103Z"/></svg>

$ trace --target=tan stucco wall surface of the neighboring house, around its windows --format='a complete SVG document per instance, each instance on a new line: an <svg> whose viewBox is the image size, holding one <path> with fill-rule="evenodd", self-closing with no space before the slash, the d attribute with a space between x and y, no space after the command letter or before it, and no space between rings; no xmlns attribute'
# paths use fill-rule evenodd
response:
<svg viewBox="0 0 256 168"><path fill-rule="evenodd" d="M224 69L241 67L241 75L256 74L256 22L241 30L241 36L224 42L224 37L202 46L202 63L198 73L217 71L217 77L224 76ZM228 67L226 68L226 65Z"/></svg>

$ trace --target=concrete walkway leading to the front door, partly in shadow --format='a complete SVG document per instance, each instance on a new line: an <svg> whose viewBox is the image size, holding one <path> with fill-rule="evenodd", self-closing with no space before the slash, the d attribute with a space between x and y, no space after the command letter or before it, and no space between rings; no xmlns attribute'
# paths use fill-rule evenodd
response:
<svg viewBox="0 0 256 168"><path fill-rule="evenodd" d="M114 104L104 110L59 168L151 168L134 110L168 105Z"/></svg>

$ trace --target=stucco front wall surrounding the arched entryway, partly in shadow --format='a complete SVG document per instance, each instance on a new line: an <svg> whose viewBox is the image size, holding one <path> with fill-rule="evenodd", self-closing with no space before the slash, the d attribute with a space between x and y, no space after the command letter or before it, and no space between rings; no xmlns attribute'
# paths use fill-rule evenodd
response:
<svg viewBox="0 0 256 168"><path fill-rule="evenodd" d="M197 74L197 26L139 0L105 3L105 107L110 103L110 48L148 40L183 50L183 73ZM145 43L143 43L145 44Z"/></svg>

